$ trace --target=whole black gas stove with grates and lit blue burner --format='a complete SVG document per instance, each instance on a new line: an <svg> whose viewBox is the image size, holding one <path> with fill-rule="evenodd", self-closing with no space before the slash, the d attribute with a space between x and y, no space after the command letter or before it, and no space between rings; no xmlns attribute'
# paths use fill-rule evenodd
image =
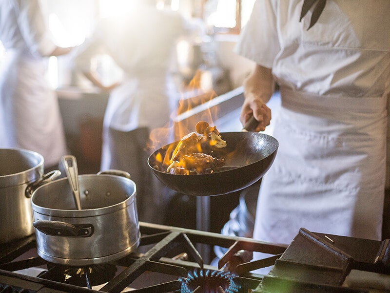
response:
<svg viewBox="0 0 390 293"><path fill-rule="evenodd" d="M45 261L36 252L34 235L0 245L0 293L369 293L372 287L389 292L389 240L301 229L285 246L144 222L140 231L137 251L96 266L65 267ZM201 246L226 252L217 263L204 263ZM267 256L226 270L242 251ZM270 266L267 274L256 273Z"/></svg>

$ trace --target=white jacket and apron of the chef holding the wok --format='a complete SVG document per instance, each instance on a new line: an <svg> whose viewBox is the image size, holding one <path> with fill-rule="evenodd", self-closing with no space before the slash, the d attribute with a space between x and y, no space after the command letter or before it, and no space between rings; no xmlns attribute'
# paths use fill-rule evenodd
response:
<svg viewBox="0 0 390 293"><path fill-rule="evenodd" d="M381 239L390 92L390 1L257 0L236 52L281 88L279 149L262 179L254 238L314 232Z"/></svg>

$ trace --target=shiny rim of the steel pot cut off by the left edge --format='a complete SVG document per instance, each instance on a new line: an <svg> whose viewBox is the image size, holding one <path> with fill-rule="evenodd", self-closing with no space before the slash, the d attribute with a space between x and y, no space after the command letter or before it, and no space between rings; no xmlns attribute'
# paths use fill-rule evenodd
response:
<svg viewBox="0 0 390 293"><path fill-rule="evenodd" d="M31 183L33 181L38 180L43 175L44 159L43 156L38 152L17 147L0 148L0 152L2 151L19 152L26 156L35 157L37 158L38 163L35 166L20 172L0 175L0 188L8 188L25 183Z"/></svg>

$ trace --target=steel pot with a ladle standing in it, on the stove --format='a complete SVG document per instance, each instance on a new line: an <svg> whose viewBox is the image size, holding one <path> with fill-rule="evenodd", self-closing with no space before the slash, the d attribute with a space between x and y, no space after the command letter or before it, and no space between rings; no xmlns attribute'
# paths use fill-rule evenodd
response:
<svg viewBox="0 0 390 293"><path fill-rule="evenodd" d="M84 266L134 251L140 239L134 181L117 173L78 175L78 181L82 209L76 208L67 178L33 192L39 256Z"/></svg>

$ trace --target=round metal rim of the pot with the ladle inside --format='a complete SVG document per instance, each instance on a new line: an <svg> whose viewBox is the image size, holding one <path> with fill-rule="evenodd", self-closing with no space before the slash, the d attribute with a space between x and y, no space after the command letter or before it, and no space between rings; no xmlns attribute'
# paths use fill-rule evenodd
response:
<svg viewBox="0 0 390 293"><path fill-rule="evenodd" d="M119 209L125 209L127 206L130 206L133 204L133 202L135 202L136 200L136 196L137 196L137 186L136 186L136 183L129 179L129 178L125 178L125 177L122 177L122 176L117 176L117 175L111 175L111 174L100 174L100 175L97 175L97 174L83 174L83 175L78 175L78 177L80 178L87 178L87 177L97 177L96 179L98 178L101 178L102 176L104 177L113 177L115 178L115 180L121 180L121 181L125 181L126 184L131 184L133 185L133 192L132 194L128 195L127 198L121 202L118 202L114 205L111 205L111 206L106 206L106 207L102 207L102 208L94 208L94 209L54 209L54 208L46 208L46 207L43 207L43 206L39 206L38 204L36 204L34 202L34 199L37 195L37 192L45 187L47 187L48 185L50 184L56 184L56 183L62 183L62 181L68 181L68 178L61 178L61 179L58 179L58 180L54 180L52 182L49 182L47 184L44 184L42 186L40 186L39 188L37 188L34 192L33 192L33 195L31 197L31 205L32 205L32 209L34 212L37 212L39 214L42 214L42 215L48 215L48 216L55 216L55 217L63 217L63 218L73 218L73 217L76 217L76 218L80 218L80 217L93 217L93 216L97 216L97 215L104 215L104 214L109 214L109 213L112 213L113 211L116 211L116 210L119 210ZM47 194L47 196L50 196L50 194Z"/></svg>

